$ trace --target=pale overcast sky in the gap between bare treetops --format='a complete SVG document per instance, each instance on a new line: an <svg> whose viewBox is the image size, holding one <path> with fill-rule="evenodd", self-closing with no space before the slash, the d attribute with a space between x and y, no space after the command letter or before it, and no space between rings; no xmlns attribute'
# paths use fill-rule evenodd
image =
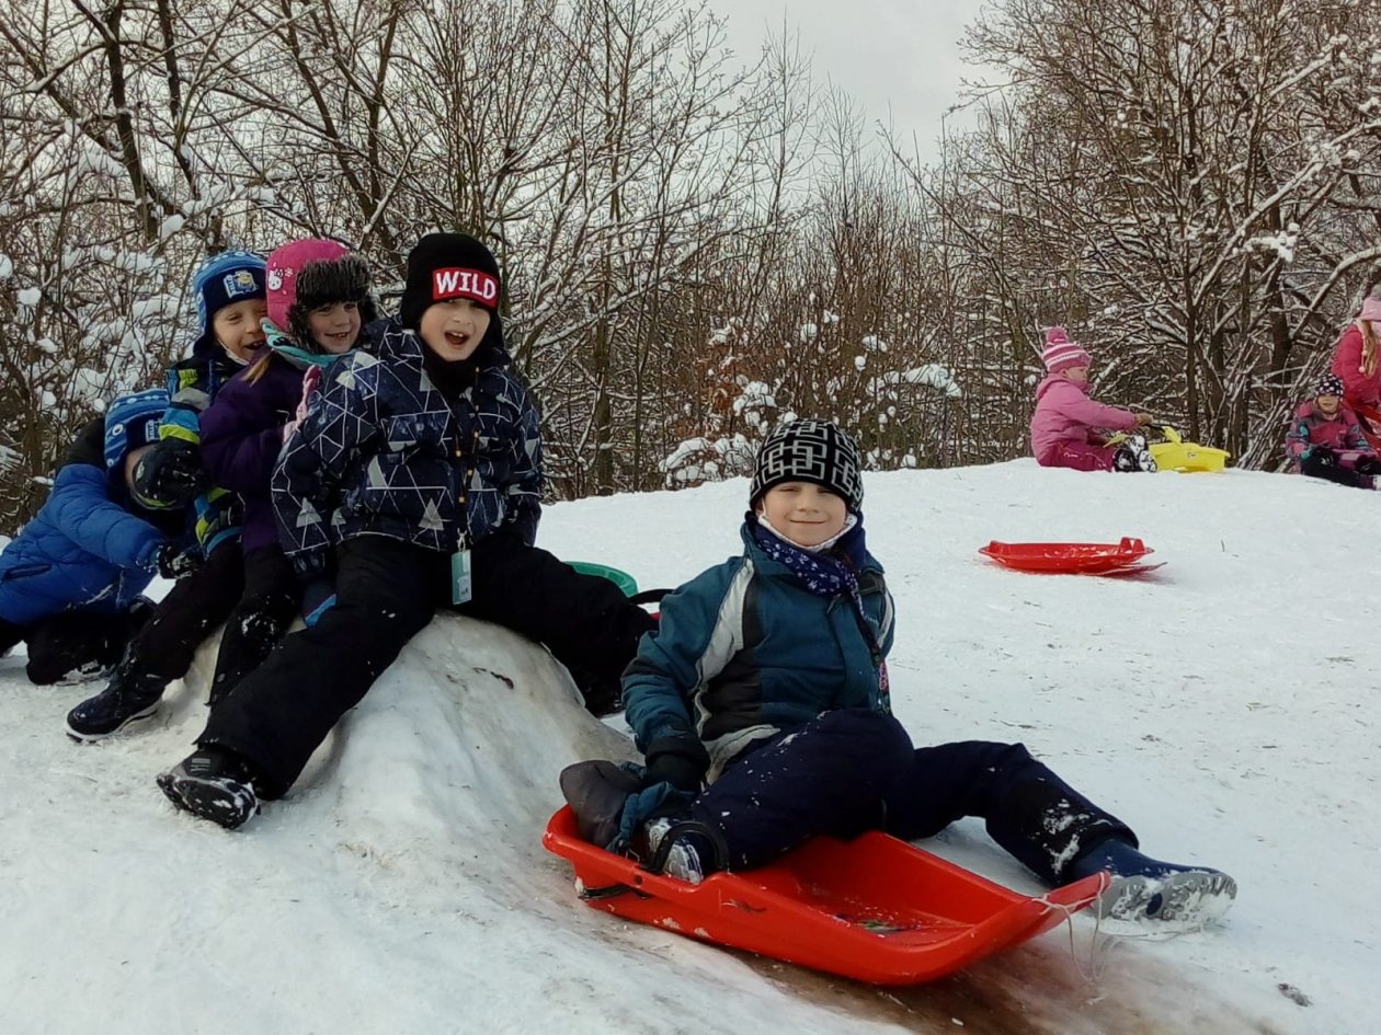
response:
<svg viewBox="0 0 1381 1035"><path fill-rule="evenodd" d="M729 19L728 44L755 55L783 15L800 33L815 79L842 87L870 119L891 117L934 150L940 116L956 101L964 65L958 39L975 0L710 0Z"/></svg>

